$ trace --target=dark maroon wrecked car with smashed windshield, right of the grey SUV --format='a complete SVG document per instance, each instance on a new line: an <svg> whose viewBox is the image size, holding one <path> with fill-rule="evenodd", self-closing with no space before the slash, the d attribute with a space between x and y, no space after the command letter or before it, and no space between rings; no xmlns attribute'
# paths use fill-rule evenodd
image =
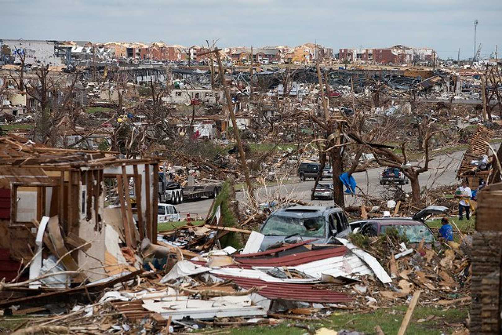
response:
<svg viewBox="0 0 502 335"><path fill-rule="evenodd" d="M354 233L366 236L378 236L388 229L397 229L399 234L405 235L410 243L434 243L436 238L425 219L433 214L443 214L448 210L445 206L429 206L418 211L413 217L382 217L369 220L350 222L350 228Z"/></svg>

